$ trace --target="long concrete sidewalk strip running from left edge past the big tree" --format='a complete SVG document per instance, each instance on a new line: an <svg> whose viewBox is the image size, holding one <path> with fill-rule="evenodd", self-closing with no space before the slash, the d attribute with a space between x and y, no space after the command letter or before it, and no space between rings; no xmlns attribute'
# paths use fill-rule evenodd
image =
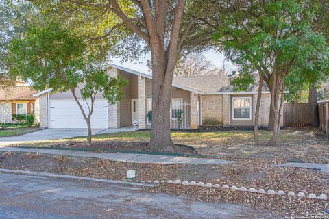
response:
<svg viewBox="0 0 329 219"><path fill-rule="evenodd" d="M38 152L51 155L66 155L75 157L97 157L117 162L149 163L149 164L234 164L223 159L206 159L197 157L182 157L168 155L146 155L134 153L97 153L89 151L58 150L58 149L27 149L18 147L0 147L0 151Z"/></svg>

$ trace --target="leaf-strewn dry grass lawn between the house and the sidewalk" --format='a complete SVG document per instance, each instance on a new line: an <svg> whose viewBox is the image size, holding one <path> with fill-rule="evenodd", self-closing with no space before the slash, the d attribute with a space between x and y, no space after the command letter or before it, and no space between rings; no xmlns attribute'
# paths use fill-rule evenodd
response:
<svg viewBox="0 0 329 219"><path fill-rule="evenodd" d="M176 144L188 144L201 155L218 156L225 159L265 159L269 162L317 162L329 163L329 140L317 129L286 129L280 132L277 146L265 142L271 132L260 131L262 145L255 146L252 131L217 132L173 132ZM148 142L148 131L101 134L93 137L94 142ZM74 147L75 142L86 142L86 137L45 140L17 146L60 146Z"/></svg>

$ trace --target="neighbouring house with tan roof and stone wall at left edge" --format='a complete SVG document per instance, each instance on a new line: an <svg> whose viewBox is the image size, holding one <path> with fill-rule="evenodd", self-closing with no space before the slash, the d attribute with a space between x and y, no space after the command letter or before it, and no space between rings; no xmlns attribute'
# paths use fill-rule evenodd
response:
<svg viewBox="0 0 329 219"><path fill-rule="evenodd" d="M13 115L38 114L37 91L23 83L7 89L0 89L0 122L12 123ZM37 103L37 104L36 104ZM35 116L38 121L38 116Z"/></svg>

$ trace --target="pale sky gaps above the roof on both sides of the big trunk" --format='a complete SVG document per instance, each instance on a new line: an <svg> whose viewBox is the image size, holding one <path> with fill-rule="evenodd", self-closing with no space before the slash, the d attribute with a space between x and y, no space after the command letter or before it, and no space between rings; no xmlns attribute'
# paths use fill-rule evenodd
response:
<svg viewBox="0 0 329 219"><path fill-rule="evenodd" d="M208 60L212 62L212 64L214 64L218 68L221 68L223 66L223 60L225 59L225 56L223 54L210 50L204 53L204 55ZM140 71L142 73L149 73L149 68L147 67L146 64L147 64L147 60L150 59L151 59L151 55L147 54L143 59L141 59L143 64L134 64L132 62L123 62L123 64L121 64L120 59L118 58L114 58L112 60L112 63L117 64L119 66L124 66L125 68L131 68Z"/></svg>

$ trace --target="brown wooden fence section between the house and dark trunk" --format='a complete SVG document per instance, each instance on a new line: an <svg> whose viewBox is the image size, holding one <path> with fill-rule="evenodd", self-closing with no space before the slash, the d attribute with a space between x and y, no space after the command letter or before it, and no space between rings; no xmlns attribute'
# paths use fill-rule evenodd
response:
<svg viewBox="0 0 329 219"><path fill-rule="evenodd" d="M310 125L308 103L284 103L284 127L305 127Z"/></svg>

